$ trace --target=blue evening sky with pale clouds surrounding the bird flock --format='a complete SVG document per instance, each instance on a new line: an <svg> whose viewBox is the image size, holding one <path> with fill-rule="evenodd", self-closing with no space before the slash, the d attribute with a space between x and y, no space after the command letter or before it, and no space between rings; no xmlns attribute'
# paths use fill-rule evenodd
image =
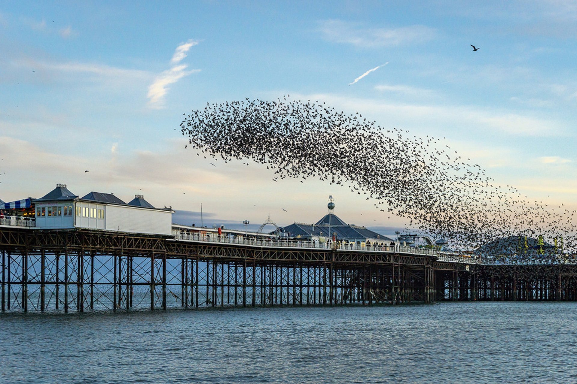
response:
<svg viewBox="0 0 577 384"><path fill-rule="evenodd" d="M346 188L184 148L191 110L291 95L441 138L496 183L576 209L576 41L561 0L5 1L0 199L65 183L256 229L317 221L333 195L347 223L407 225Z"/></svg>

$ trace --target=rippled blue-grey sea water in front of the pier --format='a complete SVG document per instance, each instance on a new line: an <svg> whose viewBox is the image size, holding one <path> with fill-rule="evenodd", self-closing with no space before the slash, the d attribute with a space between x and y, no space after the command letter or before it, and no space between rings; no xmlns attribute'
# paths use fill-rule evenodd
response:
<svg viewBox="0 0 577 384"><path fill-rule="evenodd" d="M0 382L577 382L577 303L0 314Z"/></svg>

